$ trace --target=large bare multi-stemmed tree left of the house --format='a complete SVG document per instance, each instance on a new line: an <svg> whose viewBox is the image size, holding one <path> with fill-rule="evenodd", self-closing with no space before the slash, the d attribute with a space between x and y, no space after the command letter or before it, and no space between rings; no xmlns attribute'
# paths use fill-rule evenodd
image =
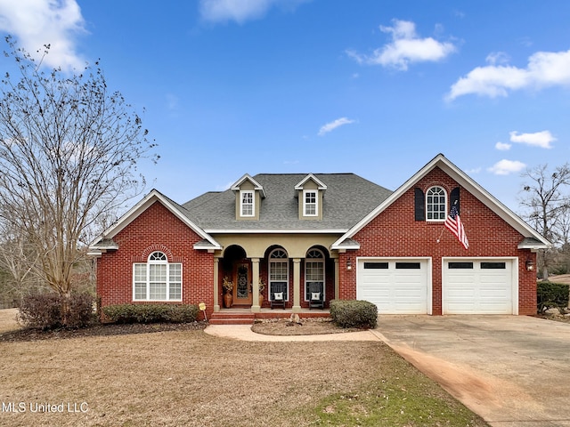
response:
<svg viewBox="0 0 570 427"><path fill-rule="evenodd" d="M136 165L155 144L98 62L71 76L45 72L6 42L19 74L0 85L0 222L33 246L37 262L27 265L69 301L74 264L102 218L141 194Z"/></svg>

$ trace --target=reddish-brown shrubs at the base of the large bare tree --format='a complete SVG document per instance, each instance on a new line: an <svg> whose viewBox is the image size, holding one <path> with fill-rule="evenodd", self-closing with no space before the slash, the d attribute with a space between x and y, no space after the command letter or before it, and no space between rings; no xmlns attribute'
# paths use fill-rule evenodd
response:
<svg viewBox="0 0 570 427"><path fill-rule="evenodd" d="M94 321L93 296L71 294L69 310L64 318L64 307L68 300L59 294L31 294L24 296L20 303L18 320L24 326L41 329L56 327L85 327Z"/></svg>

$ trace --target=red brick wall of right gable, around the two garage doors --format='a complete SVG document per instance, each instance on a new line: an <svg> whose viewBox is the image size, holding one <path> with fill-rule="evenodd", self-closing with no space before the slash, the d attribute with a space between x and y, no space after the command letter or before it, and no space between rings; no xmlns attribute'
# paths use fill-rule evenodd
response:
<svg viewBox="0 0 570 427"><path fill-rule="evenodd" d="M459 184L436 168L415 187L425 193L433 185L444 187L449 197ZM442 313L442 257L517 256L518 313L535 313L536 279L533 271L526 271L525 262L528 257L533 262L536 259L530 251L517 249L524 237L463 188L460 189L460 217L469 240L468 250L444 229L442 222L414 221L414 189L405 192L354 236L361 245L360 250L340 254L340 298L356 297L357 256L428 256L433 262L433 314L438 315ZM347 257L352 260L353 270L346 270Z"/></svg>

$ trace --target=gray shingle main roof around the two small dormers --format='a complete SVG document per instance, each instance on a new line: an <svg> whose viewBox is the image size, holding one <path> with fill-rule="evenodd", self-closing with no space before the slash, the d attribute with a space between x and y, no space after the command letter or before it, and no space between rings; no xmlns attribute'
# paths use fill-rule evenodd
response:
<svg viewBox="0 0 570 427"><path fill-rule="evenodd" d="M208 192L183 204L183 212L207 231L348 230L391 193L354 173L314 173L326 184L322 220L299 220L295 185L307 173L260 173L253 178L265 189L259 220L236 221L235 193Z"/></svg>

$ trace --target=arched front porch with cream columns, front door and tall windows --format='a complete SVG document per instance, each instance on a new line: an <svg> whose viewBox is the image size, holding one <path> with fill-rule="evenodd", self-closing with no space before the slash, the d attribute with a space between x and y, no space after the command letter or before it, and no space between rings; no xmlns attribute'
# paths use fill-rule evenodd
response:
<svg viewBox="0 0 570 427"><path fill-rule="evenodd" d="M331 300L338 299L338 254L315 245L312 238L289 239L275 243L273 236L273 244L256 245L244 240L215 254L214 312L236 306L256 313L257 318L283 318L291 313L311 313L309 307L328 307ZM272 315L272 302L284 304L287 310L274 307L281 315Z"/></svg>

